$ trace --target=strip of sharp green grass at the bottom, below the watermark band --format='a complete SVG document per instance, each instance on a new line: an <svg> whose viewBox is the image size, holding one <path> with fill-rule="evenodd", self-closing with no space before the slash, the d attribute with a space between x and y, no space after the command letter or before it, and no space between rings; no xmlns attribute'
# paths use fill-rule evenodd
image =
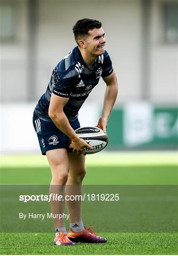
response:
<svg viewBox="0 0 178 256"><path fill-rule="evenodd" d="M12 255L174 255L178 252L176 234L101 233L106 244L54 246L53 234L3 234L1 254Z"/></svg>

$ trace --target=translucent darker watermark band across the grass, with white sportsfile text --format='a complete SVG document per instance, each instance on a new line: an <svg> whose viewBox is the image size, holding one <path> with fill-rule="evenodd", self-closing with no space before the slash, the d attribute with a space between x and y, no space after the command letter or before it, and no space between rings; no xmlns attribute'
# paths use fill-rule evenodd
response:
<svg viewBox="0 0 178 256"><path fill-rule="evenodd" d="M82 195L75 192L77 185L65 192L57 185L1 185L0 232L49 233L53 219L68 227L68 203L81 203L84 224L98 233L178 232L177 185L83 185ZM64 201L65 211L52 213L52 201Z"/></svg>

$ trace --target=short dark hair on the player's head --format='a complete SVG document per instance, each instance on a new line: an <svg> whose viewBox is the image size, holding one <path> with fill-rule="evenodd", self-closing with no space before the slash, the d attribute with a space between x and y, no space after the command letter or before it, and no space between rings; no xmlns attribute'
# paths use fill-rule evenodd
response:
<svg viewBox="0 0 178 256"><path fill-rule="evenodd" d="M100 28L102 23L96 19L82 18L76 22L73 26L73 34L76 43L79 45L79 40L89 36L89 30L93 28Z"/></svg>

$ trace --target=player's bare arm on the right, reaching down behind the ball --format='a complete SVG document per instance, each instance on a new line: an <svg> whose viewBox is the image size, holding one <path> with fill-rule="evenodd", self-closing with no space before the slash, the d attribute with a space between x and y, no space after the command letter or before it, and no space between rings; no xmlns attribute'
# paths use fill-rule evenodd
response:
<svg viewBox="0 0 178 256"><path fill-rule="evenodd" d="M118 85L116 73L113 71L111 75L104 77L103 80L106 82L107 88L105 91L102 114L98 121L97 127L106 132L109 115L113 109L117 97Z"/></svg>

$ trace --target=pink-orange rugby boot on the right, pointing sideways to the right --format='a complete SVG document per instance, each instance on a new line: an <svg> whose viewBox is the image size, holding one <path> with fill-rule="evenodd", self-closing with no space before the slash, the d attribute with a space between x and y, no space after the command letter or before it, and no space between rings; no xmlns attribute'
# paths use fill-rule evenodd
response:
<svg viewBox="0 0 178 256"><path fill-rule="evenodd" d="M75 233L72 229L67 233L68 238L75 243L106 243L107 239L99 237L97 233L93 231L94 227L85 227L84 230Z"/></svg>

